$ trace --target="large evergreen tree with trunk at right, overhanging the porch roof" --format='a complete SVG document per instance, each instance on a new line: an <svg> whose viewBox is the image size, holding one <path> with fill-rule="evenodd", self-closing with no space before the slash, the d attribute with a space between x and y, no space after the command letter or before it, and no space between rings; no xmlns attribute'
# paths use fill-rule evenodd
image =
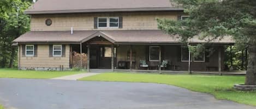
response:
<svg viewBox="0 0 256 109"><path fill-rule="evenodd" d="M231 36L237 48L248 48L245 85L256 85L256 1L255 0L171 0L184 8L186 20L159 20L159 29L180 35L181 40L222 39Z"/></svg>

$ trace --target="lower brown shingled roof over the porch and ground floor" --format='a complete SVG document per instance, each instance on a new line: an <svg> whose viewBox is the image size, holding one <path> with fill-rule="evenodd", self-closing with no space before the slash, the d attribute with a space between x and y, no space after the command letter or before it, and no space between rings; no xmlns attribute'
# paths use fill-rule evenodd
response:
<svg viewBox="0 0 256 109"><path fill-rule="evenodd" d="M165 34L162 30L86 30L74 31L29 31L14 40L14 43L80 43L93 37L102 36L115 44L129 43L180 43L179 37ZM207 40L199 40L197 37L190 39L190 43L206 43ZM231 37L222 40L214 40L211 43L234 43Z"/></svg>

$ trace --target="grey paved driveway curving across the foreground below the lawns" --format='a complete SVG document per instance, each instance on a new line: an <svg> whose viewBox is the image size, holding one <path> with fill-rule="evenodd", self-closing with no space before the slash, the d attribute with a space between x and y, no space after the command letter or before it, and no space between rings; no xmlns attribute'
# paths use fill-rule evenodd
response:
<svg viewBox="0 0 256 109"><path fill-rule="evenodd" d="M0 79L0 104L7 109L256 108L168 85L35 79Z"/></svg>

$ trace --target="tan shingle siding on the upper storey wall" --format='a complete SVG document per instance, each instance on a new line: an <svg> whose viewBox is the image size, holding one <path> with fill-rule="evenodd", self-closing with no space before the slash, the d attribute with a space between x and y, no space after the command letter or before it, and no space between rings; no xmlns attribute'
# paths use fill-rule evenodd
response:
<svg viewBox="0 0 256 109"><path fill-rule="evenodd" d="M146 30L157 29L156 18L169 18L176 20L178 13L174 12L145 12L145 13L120 13L120 14L62 14L62 15L32 15L32 31L58 31L70 30L95 30L94 17L123 17L123 28L118 30ZM45 20L51 18L52 25L45 25ZM97 29L117 30L117 29Z"/></svg>

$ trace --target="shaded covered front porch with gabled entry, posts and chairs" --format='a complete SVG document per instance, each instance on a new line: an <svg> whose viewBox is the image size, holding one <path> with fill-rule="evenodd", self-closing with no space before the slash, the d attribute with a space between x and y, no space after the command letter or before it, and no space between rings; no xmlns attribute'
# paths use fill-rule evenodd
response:
<svg viewBox="0 0 256 109"><path fill-rule="evenodd" d="M154 34L146 30L133 30L130 33L127 31L97 31L82 40L80 44L71 44L70 52L87 54L88 72L90 69L110 69L112 72L184 72L188 70L222 72L224 46L233 44L230 42L210 43L207 44L201 56L194 57L190 54L189 57L188 48L183 47L179 40L160 30L155 30ZM150 41L147 41L148 39ZM200 43L196 41L192 44ZM211 54L208 52L210 48L213 49ZM72 56L70 57L72 59Z"/></svg>

